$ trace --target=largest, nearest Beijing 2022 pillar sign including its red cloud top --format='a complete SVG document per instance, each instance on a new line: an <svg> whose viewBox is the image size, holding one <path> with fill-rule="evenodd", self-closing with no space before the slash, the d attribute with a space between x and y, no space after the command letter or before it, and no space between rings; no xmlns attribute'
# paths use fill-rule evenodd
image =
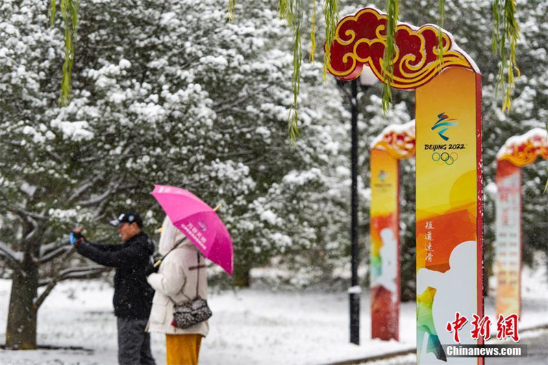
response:
<svg viewBox="0 0 548 365"><path fill-rule="evenodd" d="M338 23L329 72L349 80L370 67L381 80L386 14L364 8ZM393 88L416 97L417 364L483 364L450 357L456 316L461 344L471 338L473 314L483 317L481 75L469 55L435 25L399 23Z"/></svg>

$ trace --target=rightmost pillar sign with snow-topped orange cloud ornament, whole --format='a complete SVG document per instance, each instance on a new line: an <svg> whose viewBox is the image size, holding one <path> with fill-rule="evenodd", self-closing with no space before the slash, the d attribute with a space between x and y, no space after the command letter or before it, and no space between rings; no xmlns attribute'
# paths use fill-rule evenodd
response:
<svg viewBox="0 0 548 365"><path fill-rule="evenodd" d="M548 159L545 129L509 138L497 154L497 317L521 312L521 168Z"/></svg>

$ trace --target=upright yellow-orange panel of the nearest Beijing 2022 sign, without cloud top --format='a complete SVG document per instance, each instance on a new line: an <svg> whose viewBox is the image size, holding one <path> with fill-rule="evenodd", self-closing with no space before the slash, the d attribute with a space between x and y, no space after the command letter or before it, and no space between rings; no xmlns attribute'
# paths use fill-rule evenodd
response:
<svg viewBox="0 0 548 365"><path fill-rule="evenodd" d="M446 357L456 312L483 315L479 74L449 67L416 89L417 364L482 364ZM479 136L479 138L478 138ZM479 218L481 220L481 218ZM478 239L478 235L480 236ZM475 344L471 324L461 344Z"/></svg>

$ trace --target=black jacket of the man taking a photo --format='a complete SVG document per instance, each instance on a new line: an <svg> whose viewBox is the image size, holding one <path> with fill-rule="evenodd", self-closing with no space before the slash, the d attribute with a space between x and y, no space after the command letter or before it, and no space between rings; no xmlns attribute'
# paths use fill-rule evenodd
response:
<svg viewBox="0 0 548 365"><path fill-rule="evenodd" d="M154 253L152 240L140 232L123 244L77 244L80 255L97 264L116 268L114 275L114 315L128 319L149 318L154 290L147 283L145 271Z"/></svg>

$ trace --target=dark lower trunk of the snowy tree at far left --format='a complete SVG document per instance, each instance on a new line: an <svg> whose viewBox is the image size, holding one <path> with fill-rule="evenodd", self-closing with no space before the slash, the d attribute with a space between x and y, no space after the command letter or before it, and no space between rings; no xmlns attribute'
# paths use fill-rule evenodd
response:
<svg viewBox="0 0 548 365"><path fill-rule="evenodd" d="M25 260L22 270L14 270L12 294L5 330L5 347L8 349L36 349L36 314L34 299L38 294L38 265Z"/></svg>

